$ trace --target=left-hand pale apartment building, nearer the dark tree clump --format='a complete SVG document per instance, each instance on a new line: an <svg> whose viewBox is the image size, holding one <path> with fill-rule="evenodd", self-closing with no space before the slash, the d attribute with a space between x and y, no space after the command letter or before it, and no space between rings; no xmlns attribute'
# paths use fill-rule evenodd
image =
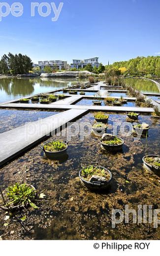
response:
<svg viewBox="0 0 160 256"><path fill-rule="evenodd" d="M40 67L41 70L44 69L45 66L50 66L51 68L55 69L68 69L69 65L67 64L66 61L40 61L38 62L38 66Z"/></svg>

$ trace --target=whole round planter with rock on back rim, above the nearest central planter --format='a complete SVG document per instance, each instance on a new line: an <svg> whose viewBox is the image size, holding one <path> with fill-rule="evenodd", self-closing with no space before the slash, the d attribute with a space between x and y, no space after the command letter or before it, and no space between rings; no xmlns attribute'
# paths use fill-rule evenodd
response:
<svg viewBox="0 0 160 256"><path fill-rule="evenodd" d="M120 151L124 145L124 140L115 135L104 133L100 139L100 144L105 150Z"/></svg>

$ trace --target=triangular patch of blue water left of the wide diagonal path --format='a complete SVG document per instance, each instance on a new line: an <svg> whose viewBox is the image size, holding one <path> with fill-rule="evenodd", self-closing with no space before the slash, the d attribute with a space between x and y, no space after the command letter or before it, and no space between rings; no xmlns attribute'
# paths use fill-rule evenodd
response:
<svg viewBox="0 0 160 256"><path fill-rule="evenodd" d="M58 111L0 109L0 133L58 113Z"/></svg>

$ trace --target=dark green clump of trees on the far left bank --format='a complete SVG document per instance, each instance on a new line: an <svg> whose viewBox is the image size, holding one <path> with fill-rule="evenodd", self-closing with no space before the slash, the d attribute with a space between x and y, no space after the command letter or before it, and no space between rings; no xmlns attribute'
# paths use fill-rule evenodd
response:
<svg viewBox="0 0 160 256"><path fill-rule="evenodd" d="M32 70L32 60L27 55L8 53L4 54L0 60L0 74L21 75Z"/></svg>

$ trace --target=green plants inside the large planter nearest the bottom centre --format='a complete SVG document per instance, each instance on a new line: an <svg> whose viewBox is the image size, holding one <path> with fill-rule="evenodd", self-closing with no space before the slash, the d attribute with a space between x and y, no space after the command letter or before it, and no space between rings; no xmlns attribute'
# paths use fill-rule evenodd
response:
<svg viewBox="0 0 160 256"><path fill-rule="evenodd" d="M86 181L89 181L93 175L105 177L106 180L110 179L110 174L106 172L105 169L100 168L98 166L96 167L96 166L90 165L82 169L81 176Z"/></svg>

